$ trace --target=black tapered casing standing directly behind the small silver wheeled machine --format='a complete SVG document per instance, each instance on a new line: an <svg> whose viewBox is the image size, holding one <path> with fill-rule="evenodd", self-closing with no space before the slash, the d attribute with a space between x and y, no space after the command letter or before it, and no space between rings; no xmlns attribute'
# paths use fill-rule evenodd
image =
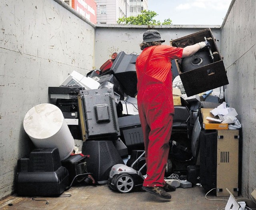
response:
<svg viewBox="0 0 256 210"><path fill-rule="evenodd" d="M82 154L90 155L86 160L87 171L98 184L108 183L112 166L124 164L112 141L84 141Z"/></svg>

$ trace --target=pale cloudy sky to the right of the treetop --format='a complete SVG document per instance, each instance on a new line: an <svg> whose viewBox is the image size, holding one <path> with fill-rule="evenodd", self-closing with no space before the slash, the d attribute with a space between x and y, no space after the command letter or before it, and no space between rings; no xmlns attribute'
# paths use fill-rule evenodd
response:
<svg viewBox="0 0 256 210"><path fill-rule="evenodd" d="M173 25L221 25L232 0L148 0L148 10Z"/></svg>

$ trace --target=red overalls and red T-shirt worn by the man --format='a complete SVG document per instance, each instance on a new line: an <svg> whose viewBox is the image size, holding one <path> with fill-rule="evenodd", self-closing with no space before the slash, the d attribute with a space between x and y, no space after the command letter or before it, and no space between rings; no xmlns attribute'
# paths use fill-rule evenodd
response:
<svg viewBox="0 0 256 210"><path fill-rule="evenodd" d="M171 59L183 48L161 45L145 48L136 61L137 103L144 135L147 177L143 186L164 186L174 105Z"/></svg>

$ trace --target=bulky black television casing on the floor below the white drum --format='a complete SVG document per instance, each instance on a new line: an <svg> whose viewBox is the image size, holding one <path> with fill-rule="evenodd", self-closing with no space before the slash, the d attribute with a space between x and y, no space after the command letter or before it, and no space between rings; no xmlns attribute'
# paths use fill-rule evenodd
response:
<svg viewBox="0 0 256 210"><path fill-rule="evenodd" d="M18 159L19 196L58 196L68 187L68 170L61 165L57 148L35 149Z"/></svg>

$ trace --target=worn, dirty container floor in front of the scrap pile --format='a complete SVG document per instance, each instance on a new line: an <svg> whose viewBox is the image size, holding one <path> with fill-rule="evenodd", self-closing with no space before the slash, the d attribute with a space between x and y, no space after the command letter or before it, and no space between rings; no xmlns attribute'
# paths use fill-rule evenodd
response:
<svg viewBox="0 0 256 210"><path fill-rule="evenodd" d="M76 210L222 210L229 197L216 197L207 194L202 187L177 188L170 192L172 199L166 200L148 192L119 193L108 185L72 186L58 197L36 198L9 196L0 201L0 209L76 209ZM224 200L222 200L224 199ZM46 201L49 204L46 204Z"/></svg>

